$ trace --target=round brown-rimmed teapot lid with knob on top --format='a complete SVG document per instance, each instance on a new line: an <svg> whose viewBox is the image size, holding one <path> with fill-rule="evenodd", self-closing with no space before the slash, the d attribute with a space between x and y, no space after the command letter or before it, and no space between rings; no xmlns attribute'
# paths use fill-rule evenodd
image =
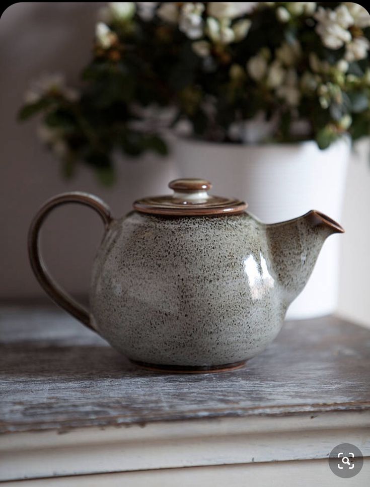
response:
<svg viewBox="0 0 370 487"><path fill-rule="evenodd" d="M175 179L169 187L173 194L137 199L134 210L153 215L204 216L241 213L247 207L239 199L208 194L212 185L204 179Z"/></svg>

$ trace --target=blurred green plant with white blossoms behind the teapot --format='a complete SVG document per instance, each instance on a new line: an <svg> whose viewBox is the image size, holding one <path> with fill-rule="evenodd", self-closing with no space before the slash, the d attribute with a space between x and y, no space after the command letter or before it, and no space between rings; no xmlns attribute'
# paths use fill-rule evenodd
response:
<svg viewBox="0 0 370 487"><path fill-rule="evenodd" d="M41 112L66 173L83 161L107 183L116 149L166 154L163 127L324 149L370 133L369 39L370 15L351 2L111 3L79 90L44 79L20 118Z"/></svg>

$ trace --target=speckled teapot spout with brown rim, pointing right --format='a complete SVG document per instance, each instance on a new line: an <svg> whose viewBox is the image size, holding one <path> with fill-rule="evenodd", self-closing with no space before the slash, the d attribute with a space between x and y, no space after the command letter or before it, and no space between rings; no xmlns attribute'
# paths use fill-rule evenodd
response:
<svg viewBox="0 0 370 487"><path fill-rule="evenodd" d="M277 279L289 305L306 286L327 237L344 233L337 222L312 210L302 217L266 225Z"/></svg>

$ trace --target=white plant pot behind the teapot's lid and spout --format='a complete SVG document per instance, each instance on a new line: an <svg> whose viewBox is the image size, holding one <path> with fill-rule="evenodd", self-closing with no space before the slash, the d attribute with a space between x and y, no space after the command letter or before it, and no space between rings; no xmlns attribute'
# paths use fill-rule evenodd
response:
<svg viewBox="0 0 370 487"><path fill-rule="evenodd" d="M321 151L300 144L233 145L177 139L174 155L182 177L202 177L214 194L237 196L265 223L319 210L340 222L350 144L343 138ZM337 308L340 236L324 243L309 283L287 318L324 316Z"/></svg>

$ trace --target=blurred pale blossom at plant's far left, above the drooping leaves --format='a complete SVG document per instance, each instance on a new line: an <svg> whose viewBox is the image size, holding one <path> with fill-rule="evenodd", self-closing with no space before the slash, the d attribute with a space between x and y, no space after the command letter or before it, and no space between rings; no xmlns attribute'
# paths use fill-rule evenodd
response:
<svg viewBox="0 0 370 487"><path fill-rule="evenodd" d="M65 79L63 75L45 74L32 83L32 86L26 92L24 99L26 103L37 103L44 95L48 93L61 95L70 102L77 101L80 97L77 90L65 86Z"/></svg>

